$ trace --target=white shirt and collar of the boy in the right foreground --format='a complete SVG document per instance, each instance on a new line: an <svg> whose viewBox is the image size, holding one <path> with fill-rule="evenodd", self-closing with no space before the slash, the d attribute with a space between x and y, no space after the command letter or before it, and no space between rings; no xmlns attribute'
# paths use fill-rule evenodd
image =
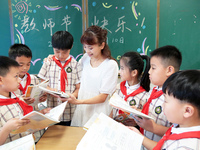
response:
<svg viewBox="0 0 200 150"><path fill-rule="evenodd" d="M188 128L172 127L172 134L180 134L184 132L200 131L200 126ZM185 138L179 140L167 140L162 146L162 150L200 150L200 139L198 138Z"/></svg>

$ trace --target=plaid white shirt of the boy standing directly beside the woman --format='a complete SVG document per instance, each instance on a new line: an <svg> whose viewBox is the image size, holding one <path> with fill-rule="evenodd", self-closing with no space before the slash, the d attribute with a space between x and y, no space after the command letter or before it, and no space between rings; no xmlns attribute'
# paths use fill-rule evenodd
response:
<svg viewBox="0 0 200 150"><path fill-rule="evenodd" d="M65 62L69 59L68 57ZM64 65L65 62L61 62ZM69 71L67 71L69 69ZM67 82L65 82L65 92L73 93L76 89L76 84L80 82L81 75L81 67L78 65L78 62L72 58L71 62L65 67L67 73ZM60 90L60 73L61 68L56 64L55 61L48 61L42 65L42 68L39 71L38 77L41 79L47 80L49 79L49 86L54 89ZM47 95L47 107L54 108L61 104L61 100L59 98L55 98L51 95ZM76 105L68 103L63 115L60 118L60 121L71 121L72 116L74 114Z"/></svg>

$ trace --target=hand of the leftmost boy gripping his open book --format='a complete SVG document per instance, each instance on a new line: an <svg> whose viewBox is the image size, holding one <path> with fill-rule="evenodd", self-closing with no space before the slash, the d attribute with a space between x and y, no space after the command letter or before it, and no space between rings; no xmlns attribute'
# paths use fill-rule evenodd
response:
<svg viewBox="0 0 200 150"><path fill-rule="evenodd" d="M13 118L11 120L9 120L4 126L3 128L9 132L19 129L21 126L24 126L26 124L30 123L29 119L23 119L20 120L19 118Z"/></svg>

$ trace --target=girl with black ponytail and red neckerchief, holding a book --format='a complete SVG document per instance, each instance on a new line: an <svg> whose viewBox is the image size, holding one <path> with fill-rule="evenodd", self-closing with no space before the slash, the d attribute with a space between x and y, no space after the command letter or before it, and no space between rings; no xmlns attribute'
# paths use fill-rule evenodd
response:
<svg viewBox="0 0 200 150"><path fill-rule="evenodd" d="M144 69L144 60L146 66ZM117 85L117 93L130 106L142 109L146 102L147 94L150 89L148 71L150 69L150 59L148 56L140 55L137 52L127 52L120 59L121 83ZM144 72L143 72L144 70ZM111 116L124 125L135 126L133 119L127 119L121 110L113 109Z"/></svg>

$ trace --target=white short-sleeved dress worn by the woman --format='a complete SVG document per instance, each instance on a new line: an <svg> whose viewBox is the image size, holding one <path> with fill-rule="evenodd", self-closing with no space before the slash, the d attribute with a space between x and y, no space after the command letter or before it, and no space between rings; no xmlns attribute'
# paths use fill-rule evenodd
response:
<svg viewBox="0 0 200 150"><path fill-rule="evenodd" d="M90 57L86 53L80 60L80 63L83 70L78 99L89 99L100 93L105 93L109 96L103 103L77 105L71 126L83 126L95 113L99 114L103 112L109 115L111 106L108 99L117 86L118 65L116 61L105 59L98 67L93 68L90 64Z"/></svg>

